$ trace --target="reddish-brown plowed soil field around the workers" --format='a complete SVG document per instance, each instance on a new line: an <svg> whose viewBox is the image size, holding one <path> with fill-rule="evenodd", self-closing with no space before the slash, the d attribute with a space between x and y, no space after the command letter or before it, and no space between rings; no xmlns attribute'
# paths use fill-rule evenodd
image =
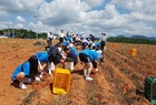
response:
<svg viewBox="0 0 156 105"><path fill-rule="evenodd" d="M156 75L156 45L118 43L114 49L113 44L106 45L104 65L92 71L94 81L84 78L78 63L71 73L69 93L58 95L52 93L52 76L28 84L28 90L11 82L14 69L43 51L46 40L0 39L0 105L152 105L144 96L144 86L145 77ZM129 55L130 49L137 50L136 56Z"/></svg>

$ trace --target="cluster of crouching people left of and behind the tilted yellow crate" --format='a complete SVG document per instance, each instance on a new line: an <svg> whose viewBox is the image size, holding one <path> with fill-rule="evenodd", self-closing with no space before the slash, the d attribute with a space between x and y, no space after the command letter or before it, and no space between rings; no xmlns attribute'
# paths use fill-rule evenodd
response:
<svg viewBox="0 0 156 105"><path fill-rule="evenodd" d="M27 88L25 84L31 81L40 81L42 73L48 72L52 75L51 72L55 71L55 65L60 62L64 62L64 57L58 46L51 46L49 51L37 52L18 65L11 75L11 80L19 82L20 88Z"/></svg>

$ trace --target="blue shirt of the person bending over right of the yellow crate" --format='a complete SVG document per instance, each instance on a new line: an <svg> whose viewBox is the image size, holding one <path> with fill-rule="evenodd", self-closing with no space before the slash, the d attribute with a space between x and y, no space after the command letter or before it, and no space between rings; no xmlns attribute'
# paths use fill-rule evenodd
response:
<svg viewBox="0 0 156 105"><path fill-rule="evenodd" d="M98 53L96 51L82 50L80 53L88 55L90 61L98 61Z"/></svg>

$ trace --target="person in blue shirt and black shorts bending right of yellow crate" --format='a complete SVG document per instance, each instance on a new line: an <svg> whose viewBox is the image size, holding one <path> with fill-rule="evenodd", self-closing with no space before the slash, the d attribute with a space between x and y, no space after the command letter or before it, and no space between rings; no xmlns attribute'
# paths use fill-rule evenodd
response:
<svg viewBox="0 0 156 105"><path fill-rule="evenodd" d="M92 66L94 66L94 69L96 69L96 71L98 71L98 69L97 69L98 53L92 50L82 50L79 53L79 59L82 63L85 63L84 75L85 75L86 80L92 81L92 78L89 77L89 75L91 73Z"/></svg>

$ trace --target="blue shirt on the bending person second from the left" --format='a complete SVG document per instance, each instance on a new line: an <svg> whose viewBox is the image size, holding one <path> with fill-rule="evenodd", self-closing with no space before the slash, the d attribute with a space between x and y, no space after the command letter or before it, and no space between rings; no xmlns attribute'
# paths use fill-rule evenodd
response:
<svg viewBox="0 0 156 105"><path fill-rule="evenodd" d="M45 62L45 63L48 63L48 53L46 51L42 51L42 52L38 52L35 54L37 56L37 59L40 61L40 62Z"/></svg>

